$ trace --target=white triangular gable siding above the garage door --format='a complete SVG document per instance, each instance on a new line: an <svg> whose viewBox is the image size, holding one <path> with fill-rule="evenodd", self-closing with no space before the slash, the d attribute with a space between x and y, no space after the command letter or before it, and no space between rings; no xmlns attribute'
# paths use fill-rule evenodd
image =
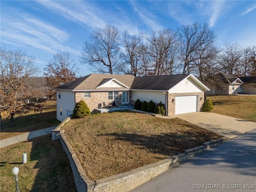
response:
<svg viewBox="0 0 256 192"><path fill-rule="evenodd" d="M186 78L169 90L169 93L203 92L202 88L192 78Z"/></svg>

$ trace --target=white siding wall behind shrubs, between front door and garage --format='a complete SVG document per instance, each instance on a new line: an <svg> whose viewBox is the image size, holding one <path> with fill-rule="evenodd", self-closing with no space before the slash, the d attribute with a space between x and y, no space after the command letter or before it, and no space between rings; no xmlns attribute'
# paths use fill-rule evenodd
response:
<svg viewBox="0 0 256 192"><path fill-rule="evenodd" d="M165 94L163 92L154 92L154 91L132 91L132 100L154 101L159 103L160 101L165 104Z"/></svg>

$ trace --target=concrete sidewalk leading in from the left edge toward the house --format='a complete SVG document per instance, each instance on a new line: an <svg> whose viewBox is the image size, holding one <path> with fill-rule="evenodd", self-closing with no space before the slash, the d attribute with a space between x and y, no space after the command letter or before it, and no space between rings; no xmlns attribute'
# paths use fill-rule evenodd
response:
<svg viewBox="0 0 256 192"><path fill-rule="evenodd" d="M27 141L29 139L39 137L42 135L50 134L52 132L52 130L54 130L56 127L57 126L53 126L53 127L49 127L49 128L45 128L45 129L41 129L41 130L37 130L37 131L32 131L32 132L24 133L24 134L15 136L15 137L0 140L0 148L9 146L9 145L12 145L15 143Z"/></svg>

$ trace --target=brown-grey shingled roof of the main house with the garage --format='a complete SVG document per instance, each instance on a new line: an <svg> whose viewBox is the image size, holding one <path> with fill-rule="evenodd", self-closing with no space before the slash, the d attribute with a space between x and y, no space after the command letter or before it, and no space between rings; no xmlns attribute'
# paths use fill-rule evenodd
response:
<svg viewBox="0 0 256 192"><path fill-rule="evenodd" d="M134 77L130 75L111 75L111 74L90 74L77 80L68 82L55 89L65 90L96 90L96 87L116 79L125 84L130 89L136 90L170 90L190 74L163 75L163 76L144 76ZM120 88L98 88L97 90L120 89ZM122 88L128 89L128 88Z"/></svg>

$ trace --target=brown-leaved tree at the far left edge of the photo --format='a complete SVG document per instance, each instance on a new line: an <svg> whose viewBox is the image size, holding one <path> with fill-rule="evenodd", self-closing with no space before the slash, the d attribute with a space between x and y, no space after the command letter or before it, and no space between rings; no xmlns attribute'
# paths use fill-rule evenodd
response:
<svg viewBox="0 0 256 192"><path fill-rule="evenodd" d="M0 49L0 106L10 115L10 126L13 126L15 114L26 113L25 108L40 106L36 103L28 103L27 98L36 97L36 92L30 91L26 83L39 72L39 68L33 65L35 58L22 50Z"/></svg>

